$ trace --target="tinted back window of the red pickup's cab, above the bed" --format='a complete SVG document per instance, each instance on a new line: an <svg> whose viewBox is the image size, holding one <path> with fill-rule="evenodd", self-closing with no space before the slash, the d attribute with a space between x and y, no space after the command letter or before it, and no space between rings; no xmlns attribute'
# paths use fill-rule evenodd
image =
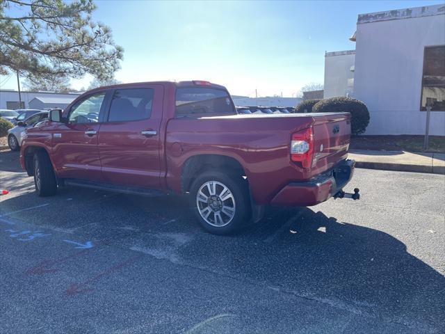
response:
<svg viewBox="0 0 445 334"><path fill-rule="evenodd" d="M236 113L226 90L204 87L186 87L176 90L176 115Z"/></svg>

